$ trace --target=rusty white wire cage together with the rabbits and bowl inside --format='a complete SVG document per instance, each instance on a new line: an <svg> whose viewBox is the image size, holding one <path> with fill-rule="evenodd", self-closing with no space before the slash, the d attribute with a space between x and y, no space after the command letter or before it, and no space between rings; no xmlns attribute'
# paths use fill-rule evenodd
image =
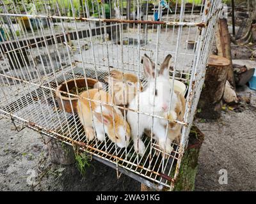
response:
<svg viewBox="0 0 256 204"><path fill-rule="evenodd" d="M0 2L1 114L172 189L221 1Z"/></svg>

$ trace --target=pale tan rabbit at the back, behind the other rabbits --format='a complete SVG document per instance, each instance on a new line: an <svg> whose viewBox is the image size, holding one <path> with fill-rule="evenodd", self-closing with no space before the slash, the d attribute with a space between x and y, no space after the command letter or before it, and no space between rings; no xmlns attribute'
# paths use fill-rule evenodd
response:
<svg viewBox="0 0 256 204"><path fill-rule="evenodd" d="M109 92L115 105L128 105L137 94L138 83L142 91L142 85L138 77L132 73L123 73L118 70L110 71L110 76L104 78L109 84Z"/></svg>

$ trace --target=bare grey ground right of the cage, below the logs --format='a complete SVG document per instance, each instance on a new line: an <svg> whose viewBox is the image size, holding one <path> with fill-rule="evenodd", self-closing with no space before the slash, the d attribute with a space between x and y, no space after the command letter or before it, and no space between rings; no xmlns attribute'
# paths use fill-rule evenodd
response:
<svg viewBox="0 0 256 204"><path fill-rule="evenodd" d="M228 110L221 119L195 124L205 135L200 150L196 191L256 191L256 110ZM220 170L228 184L220 184Z"/></svg>

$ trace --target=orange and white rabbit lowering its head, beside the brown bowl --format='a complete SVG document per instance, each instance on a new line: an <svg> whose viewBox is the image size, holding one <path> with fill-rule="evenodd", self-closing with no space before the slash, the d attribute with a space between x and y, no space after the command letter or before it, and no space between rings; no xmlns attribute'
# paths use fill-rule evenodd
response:
<svg viewBox="0 0 256 204"><path fill-rule="evenodd" d="M98 89L90 89L88 91L84 91L79 96L80 105L79 103L77 103L77 113L79 116L79 120L84 126L84 129L86 131L86 137L88 138L88 140L90 141L95 138L93 131L94 121L96 136L100 141L104 141L104 133L106 133L112 142L116 142L116 145L118 147L127 147L127 145L129 144L131 131L129 124L124 120L124 117L120 110L116 107L113 107L112 112L111 106L102 105L101 114L100 103L96 101L91 101L91 111L90 103L85 98L90 98L109 104L111 103L112 99L108 92ZM104 124L104 128L102 122Z"/></svg>

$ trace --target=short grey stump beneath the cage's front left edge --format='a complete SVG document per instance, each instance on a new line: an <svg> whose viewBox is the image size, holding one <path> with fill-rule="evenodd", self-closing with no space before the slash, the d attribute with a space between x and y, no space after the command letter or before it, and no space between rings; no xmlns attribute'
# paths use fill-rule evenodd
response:
<svg viewBox="0 0 256 204"><path fill-rule="evenodd" d="M49 137L47 137L46 140L49 157L52 163L64 165L76 163L72 146Z"/></svg>

